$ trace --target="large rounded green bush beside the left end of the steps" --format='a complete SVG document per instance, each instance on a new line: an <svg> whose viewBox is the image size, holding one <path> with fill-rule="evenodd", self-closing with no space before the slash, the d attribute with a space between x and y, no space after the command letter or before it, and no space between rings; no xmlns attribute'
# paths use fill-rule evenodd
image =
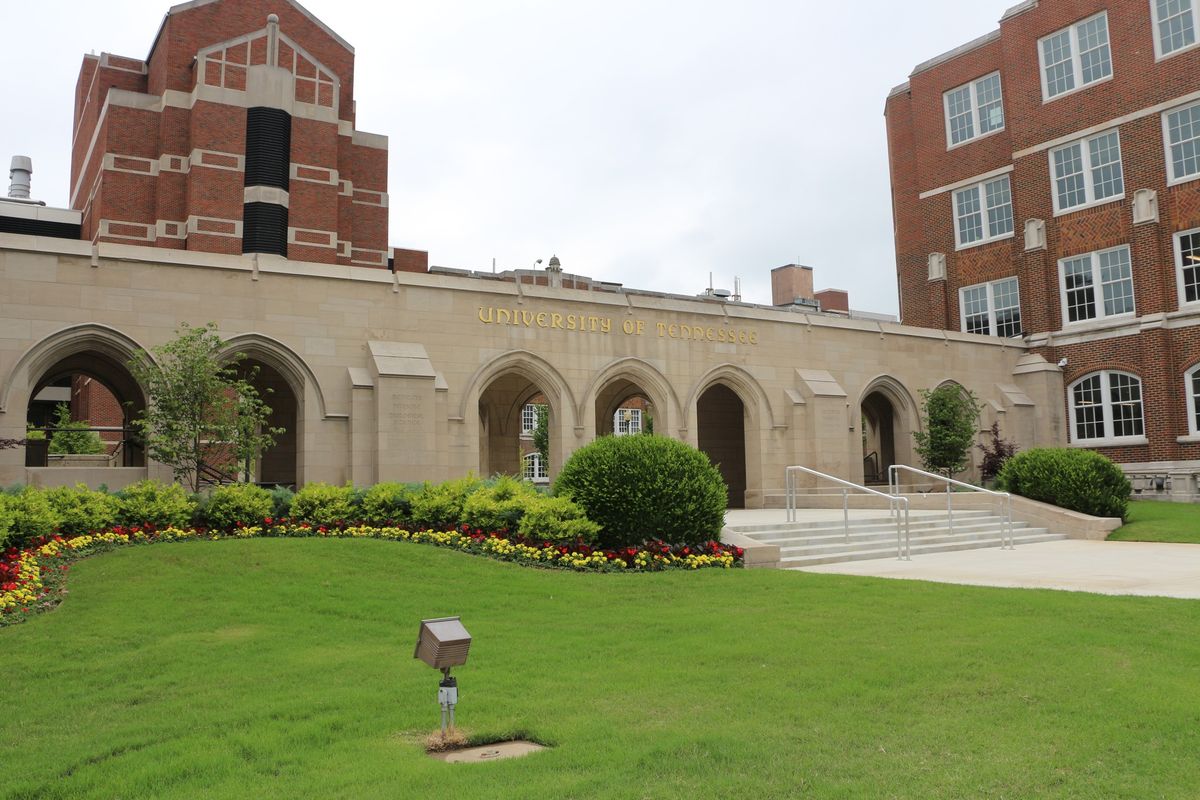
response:
<svg viewBox="0 0 1200 800"><path fill-rule="evenodd" d="M575 451L554 481L563 493L600 524L604 547L720 539L728 497L708 456L658 435L602 437Z"/></svg>

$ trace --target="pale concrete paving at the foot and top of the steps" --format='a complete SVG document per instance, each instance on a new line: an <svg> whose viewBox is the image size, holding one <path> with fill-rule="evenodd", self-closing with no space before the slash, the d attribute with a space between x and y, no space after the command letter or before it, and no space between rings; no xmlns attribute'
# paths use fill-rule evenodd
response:
<svg viewBox="0 0 1200 800"><path fill-rule="evenodd" d="M936 512L912 512L936 513ZM851 519L881 516L850 511ZM887 511L882 511L887 515ZM841 509L798 509L804 522L841 519ZM731 510L728 525L784 522L782 509ZM911 561L878 559L804 567L804 572L936 581L976 587L1066 589L1104 595L1200 599L1200 545L1067 540L914 555Z"/></svg>

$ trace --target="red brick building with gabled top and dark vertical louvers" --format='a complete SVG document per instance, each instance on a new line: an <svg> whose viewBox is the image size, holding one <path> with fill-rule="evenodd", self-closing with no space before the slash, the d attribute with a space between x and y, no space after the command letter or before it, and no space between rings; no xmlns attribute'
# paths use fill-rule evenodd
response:
<svg viewBox="0 0 1200 800"><path fill-rule="evenodd" d="M388 139L355 126L354 48L290 0L172 7L144 59L84 58L83 239L425 271L388 247Z"/></svg>

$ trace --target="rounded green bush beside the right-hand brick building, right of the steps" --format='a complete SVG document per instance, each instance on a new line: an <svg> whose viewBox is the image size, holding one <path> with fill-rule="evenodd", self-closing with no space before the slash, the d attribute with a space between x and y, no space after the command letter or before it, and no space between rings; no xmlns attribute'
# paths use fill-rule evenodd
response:
<svg viewBox="0 0 1200 800"><path fill-rule="evenodd" d="M1096 517L1126 518L1129 480L1092 450L1039 447L1016 453L1000 470L1002 491Z"/></svg>

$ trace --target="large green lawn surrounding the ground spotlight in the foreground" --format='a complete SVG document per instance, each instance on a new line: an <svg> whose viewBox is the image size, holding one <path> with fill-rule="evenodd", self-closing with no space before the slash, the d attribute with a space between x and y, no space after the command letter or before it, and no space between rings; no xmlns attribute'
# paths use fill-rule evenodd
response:
<svg viewBox="0 0 1200 800"><path fill-rule="evenodd" d="M422 616L461 613L451 765ZM0 630L4 798L1195 798L1200 603L245 540L79 563Z"/></svg>

